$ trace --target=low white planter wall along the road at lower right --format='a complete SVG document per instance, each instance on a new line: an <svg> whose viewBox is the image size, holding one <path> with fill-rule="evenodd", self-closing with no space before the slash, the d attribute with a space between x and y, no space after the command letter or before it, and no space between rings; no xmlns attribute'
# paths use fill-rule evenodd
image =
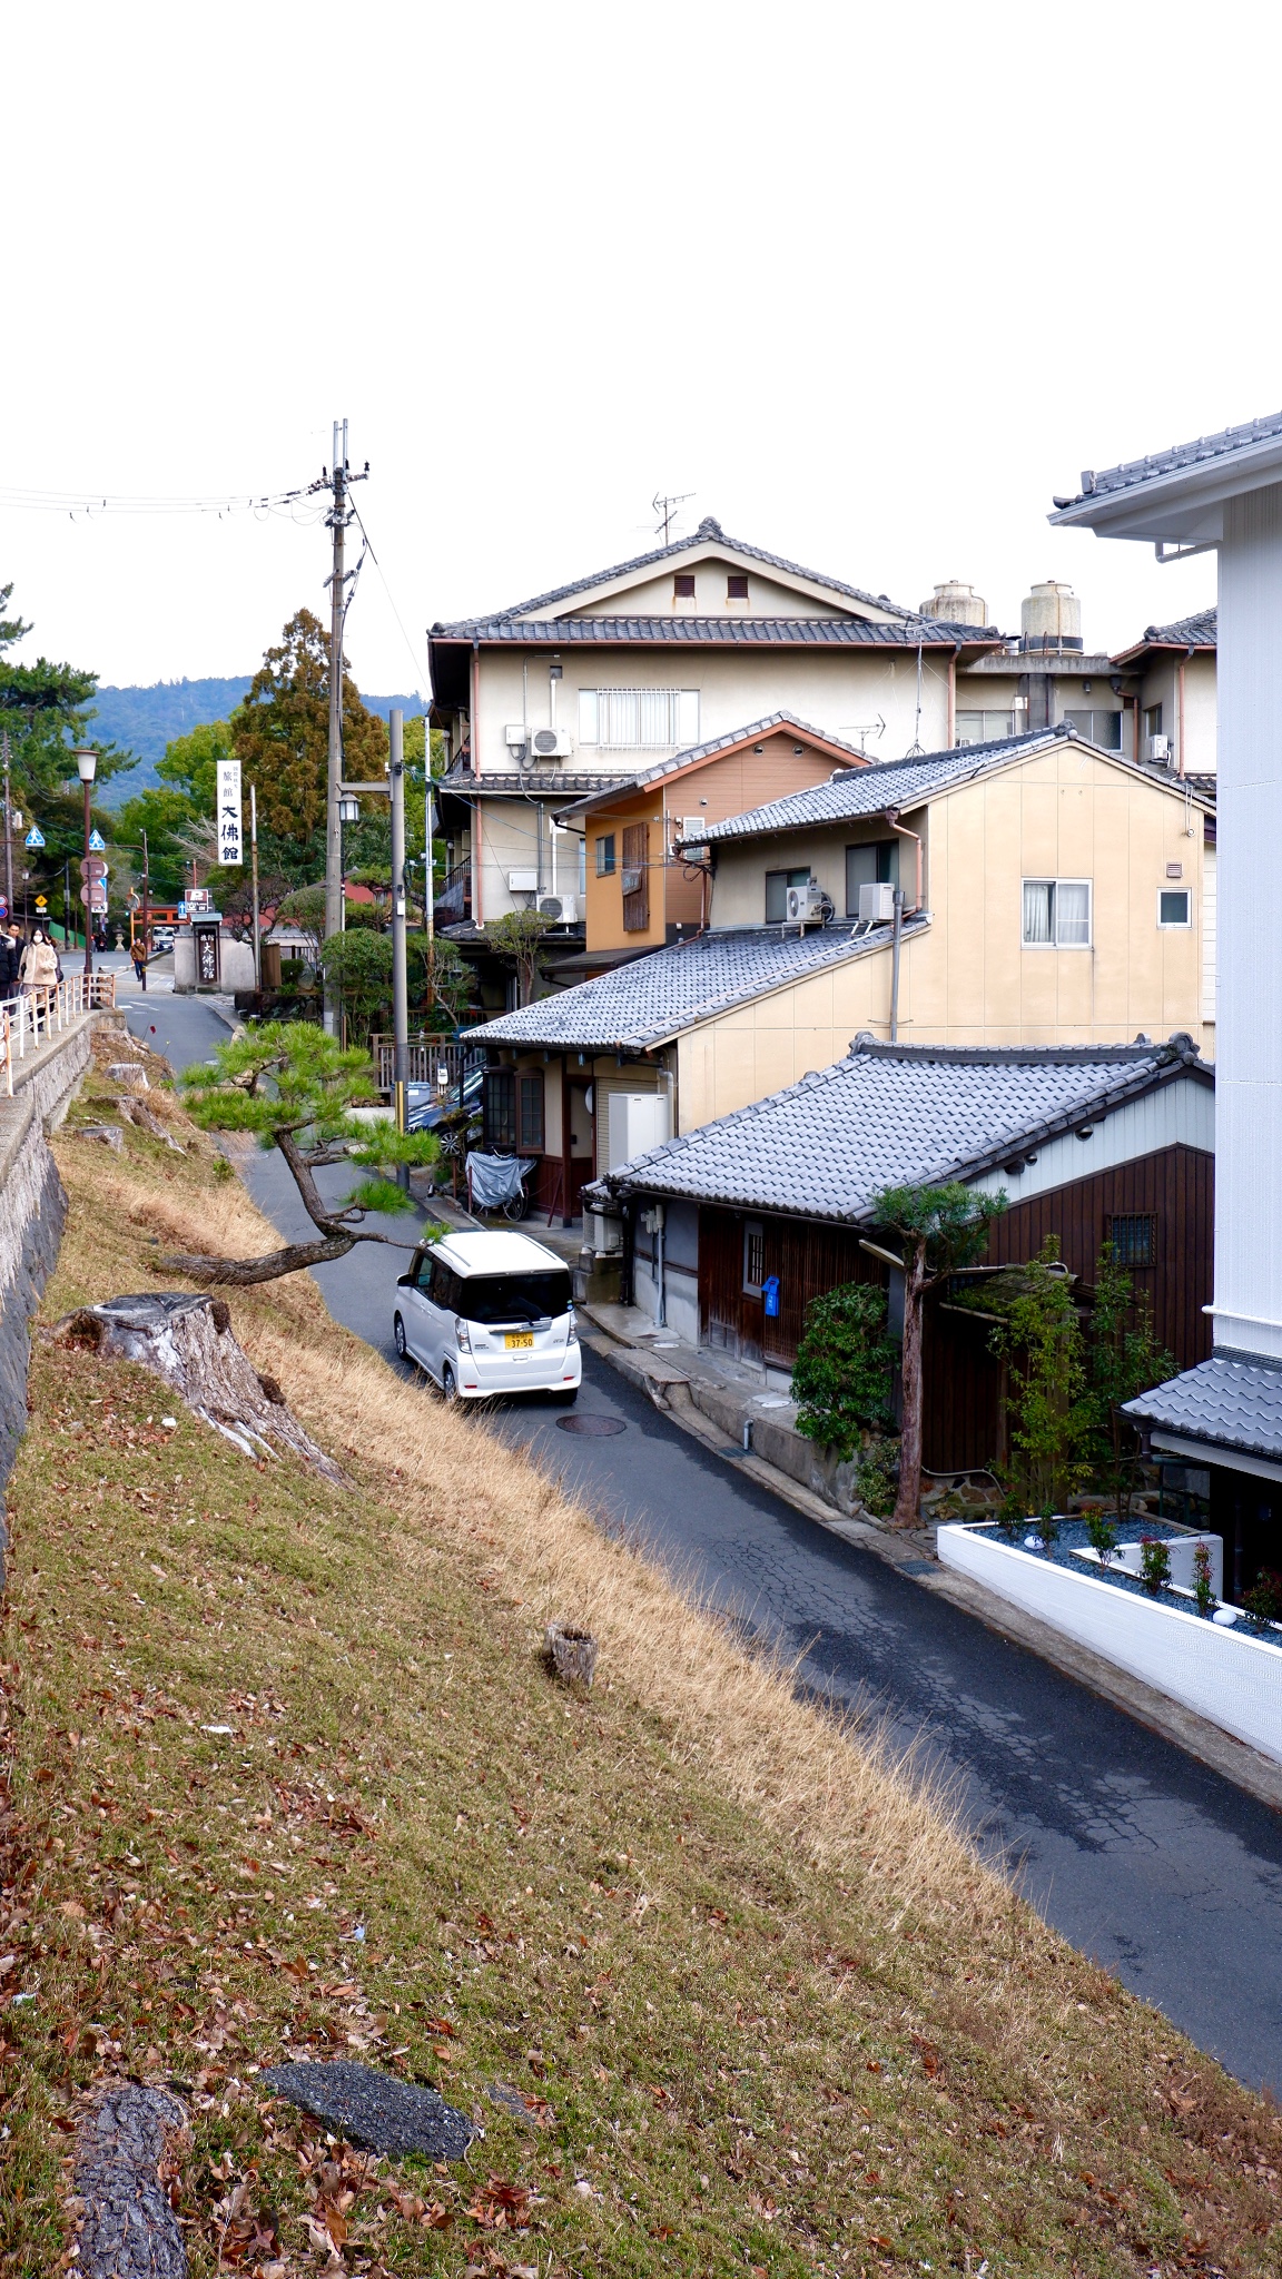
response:
<svg viewBox="0 0 1282 2279"><path fill-rule="evenodd" d="M1143 1600L1093 1575L1072 1575L1049 1559L997 1543L988 1529L940 1527L935 1547L942 1566L969 1575L1282 1764L1282 1645Z"/></svg>

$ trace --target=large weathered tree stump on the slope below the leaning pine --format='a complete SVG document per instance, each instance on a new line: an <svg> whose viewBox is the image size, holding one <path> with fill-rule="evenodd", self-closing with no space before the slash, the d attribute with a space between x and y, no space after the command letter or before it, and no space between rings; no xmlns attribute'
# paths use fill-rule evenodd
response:
<svg viewBox="0 0 1282 2279"><path fill-rule="evenodd" d="M237 1345L224 1297L187 1297L176 1290L112 1297L103 1306L64 1315L50 1335L64 1345L91 1345L107 1358L141 1361L144 1370L155 1370L187 1408L244 1456L290 1449L322 1479L342 1484L340 1468L290 1415L276 1379L260 1377Z"/></svg>

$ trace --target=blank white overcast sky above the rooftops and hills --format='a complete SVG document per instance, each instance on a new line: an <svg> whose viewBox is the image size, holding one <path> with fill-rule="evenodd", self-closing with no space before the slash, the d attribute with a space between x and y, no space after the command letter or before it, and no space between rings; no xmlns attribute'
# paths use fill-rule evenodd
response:
<svg viewBox="0 0 1282 2279"><path fill-rule="evenodd" d="M1282 401L1277 46L1241 0L9 11L2 499L281 492L347 415L370 691L655 492L1008 629L1068 579L1120 647L1214 556L1045 515ZM0 504L21 654L103 681L251 672L326 570L287 517Z"/></svg>

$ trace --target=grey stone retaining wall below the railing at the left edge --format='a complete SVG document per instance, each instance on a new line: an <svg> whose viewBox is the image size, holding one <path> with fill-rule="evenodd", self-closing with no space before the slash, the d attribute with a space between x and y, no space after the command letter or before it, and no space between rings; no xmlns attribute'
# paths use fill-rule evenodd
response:
<svg viewBox="0 0 1282 2279"><path fill-rule="evenodd" d="M98 1019L84 1014L52 1044L18 1062L14 1098L0 1098L0 1486L27 1429L30 1322L57 1260L66 1219L66 1194L46 1124L89 1067Z"/></svg>

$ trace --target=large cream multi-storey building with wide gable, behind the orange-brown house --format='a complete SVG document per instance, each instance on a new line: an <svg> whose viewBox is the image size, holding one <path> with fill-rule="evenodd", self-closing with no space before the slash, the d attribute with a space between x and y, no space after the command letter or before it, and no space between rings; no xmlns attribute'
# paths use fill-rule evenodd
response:
<svg viewBox="0 0 1282 2279"><path fill-rule="evenodd" d="M677 752L787 711L846 752L954 743L958 672L1001 647L728 538L675 540L488 618L429 634L447 738L443 923L554 902L582 925L586 848L559 811Z"/></svg>

